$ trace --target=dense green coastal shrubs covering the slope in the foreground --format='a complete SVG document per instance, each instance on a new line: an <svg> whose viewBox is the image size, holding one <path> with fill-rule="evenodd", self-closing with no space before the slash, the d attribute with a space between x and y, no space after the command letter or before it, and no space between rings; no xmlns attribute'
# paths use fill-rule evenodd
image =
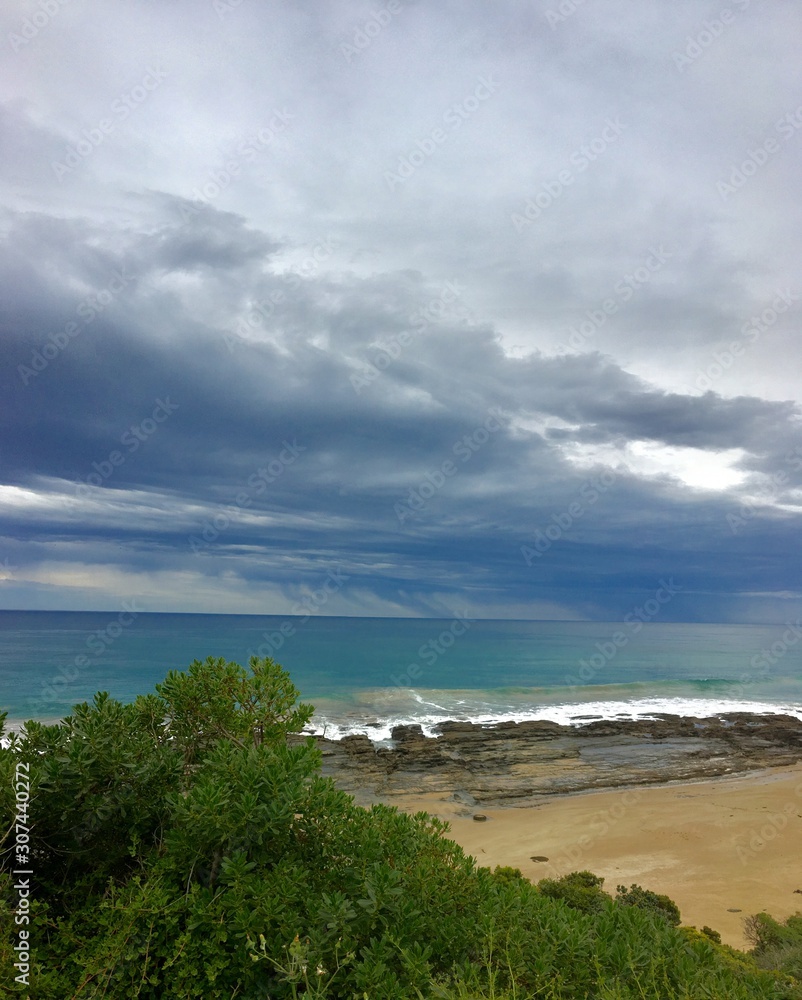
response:
<svg viewBox="0 0 802 1000"><path fill-rule="evenodd" d="M358 807L322 777L314 741L287 740L311 714L269 658L209 658L132 704L100 693L6 735L0 993L802 998L802 917L753 917L747 954L638 885L480 867L439 820Z"/></svg>

